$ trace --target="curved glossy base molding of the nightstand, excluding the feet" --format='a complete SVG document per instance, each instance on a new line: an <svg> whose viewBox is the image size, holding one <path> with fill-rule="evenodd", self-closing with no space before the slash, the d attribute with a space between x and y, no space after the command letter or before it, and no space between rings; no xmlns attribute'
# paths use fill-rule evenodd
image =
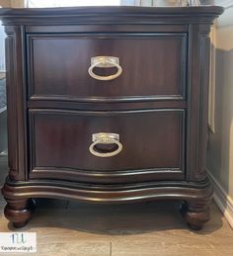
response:
<svg viewBox="0 0 233 256"><path fill-rule="evenodd" d="M121 185L98 185L70 183L58 180L31 180L18 182L8 180L3 187L8 199L23 198L67 198L91 203L129 203L137 201L178 199L208 206L212 188L208 181L199 184L184 181L157 181ZM198 210L198 206L196 204ZM194 208L193 208L194 210ZM197 219L198 220L198 219Z"/></svg>

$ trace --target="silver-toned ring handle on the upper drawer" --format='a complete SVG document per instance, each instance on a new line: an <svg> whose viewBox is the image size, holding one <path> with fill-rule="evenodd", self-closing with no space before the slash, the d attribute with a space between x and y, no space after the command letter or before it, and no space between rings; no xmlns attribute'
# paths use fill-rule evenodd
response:
<svg viewBox="0 0 233 256"><path fill-rule="evenodd" d="M108 75L108 76L101 76L97 75L93 72L94 67L103 67L103 68L109 68L109 67L116 67L117 72L114 75ZM96 56L91 58L91 66L88 69L88 73L91 77L97 80L113 80L116 77L118 77L122 72L122 68L119 65L119 61L117 57L113 56Z"/></svg>

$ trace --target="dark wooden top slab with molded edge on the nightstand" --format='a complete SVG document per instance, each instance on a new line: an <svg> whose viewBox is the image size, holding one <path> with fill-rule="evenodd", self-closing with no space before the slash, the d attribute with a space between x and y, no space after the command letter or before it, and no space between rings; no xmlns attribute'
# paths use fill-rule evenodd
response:
<svg viewBox="0 0 233 256"><path fill-rule="evenodd" d="M56 7L0 9L4 26L77 24L212 24L220 6L192 7Z"/></svg>

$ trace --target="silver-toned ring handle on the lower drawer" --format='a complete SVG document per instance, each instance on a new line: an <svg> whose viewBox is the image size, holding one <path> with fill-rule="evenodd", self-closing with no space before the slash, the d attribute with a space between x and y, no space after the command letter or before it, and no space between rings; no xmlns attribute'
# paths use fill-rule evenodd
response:
<svg viewBox="0 0 233 256"><path fill-rule="evenodd" d="M122 144L119 142L119 134L116 134L116 133L106 133L106 132L94 133L94 134L92 134L92 141L93 141L93 143L89 146L89 151L93 155L99 156L99 157L115 156L123 148ZM116 144L117 149L112 152L100 153L95 150L95 146L97 144Z"/></svg>

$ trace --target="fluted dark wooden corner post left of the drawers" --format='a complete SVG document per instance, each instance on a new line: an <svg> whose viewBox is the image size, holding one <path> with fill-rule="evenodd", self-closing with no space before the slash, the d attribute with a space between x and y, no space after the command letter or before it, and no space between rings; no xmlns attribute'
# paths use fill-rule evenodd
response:
<svg viewBox="0 0 233 256"><path fill-rule="evenodd" d="M5 31L9 174L23 180L28 169L24 28L7 27Z"/></svg>

